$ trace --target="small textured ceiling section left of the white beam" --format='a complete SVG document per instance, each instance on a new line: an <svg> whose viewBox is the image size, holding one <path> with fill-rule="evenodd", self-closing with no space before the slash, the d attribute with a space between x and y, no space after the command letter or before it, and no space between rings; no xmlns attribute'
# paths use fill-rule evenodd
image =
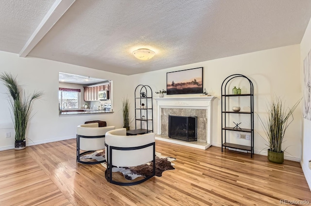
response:
<svg viewBox="0 0 311 206"><path fill-rule="evenodd" d="M19 53L55 0L1 0L0 50Z"/></svg>

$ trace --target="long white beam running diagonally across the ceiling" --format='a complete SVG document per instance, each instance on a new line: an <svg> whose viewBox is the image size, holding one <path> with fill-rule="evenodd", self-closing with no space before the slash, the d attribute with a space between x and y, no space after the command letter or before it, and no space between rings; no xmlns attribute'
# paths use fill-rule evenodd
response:
<svg viewBox="0 0 311 206"><path fill-rule="evenodd" d="M44 16L35 32L26 42L25 46L19 52L20 57L26 57L29 52L38 44L54 24L62 17L69 9L75 0L56 0L49 12Z"/></svg>

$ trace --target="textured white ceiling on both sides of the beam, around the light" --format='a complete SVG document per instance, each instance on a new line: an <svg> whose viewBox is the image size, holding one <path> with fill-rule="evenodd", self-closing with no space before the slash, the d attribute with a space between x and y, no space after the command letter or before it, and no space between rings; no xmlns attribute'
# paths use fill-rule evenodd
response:
<svg viewBox="0 0 311 206"><path fill-rule="evenodd" d="M0 7L0 50L19 53L51 5L22 2ZM131 75L299 44L310 18L311 0L76 0L28 56Z"/></svg>

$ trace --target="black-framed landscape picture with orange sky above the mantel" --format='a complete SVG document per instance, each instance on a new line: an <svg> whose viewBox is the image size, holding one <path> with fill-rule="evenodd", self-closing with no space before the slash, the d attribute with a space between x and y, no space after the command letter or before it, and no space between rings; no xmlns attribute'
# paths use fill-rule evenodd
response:
<svg viewBox="0 0 311 206"><path fill-rule="evenodd" d="M203 67L166 73L168 95L202 94Z"/></svg>

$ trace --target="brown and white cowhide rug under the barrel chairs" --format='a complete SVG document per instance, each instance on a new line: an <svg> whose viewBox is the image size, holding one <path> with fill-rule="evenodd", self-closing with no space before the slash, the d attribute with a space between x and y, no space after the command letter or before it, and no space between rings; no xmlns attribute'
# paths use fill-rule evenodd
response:
<svg viewBox="0 0 311 206"><path fill-rule="evenodd" d="M81 156L80 159L95 159L97 161L101 161L105 159L105 151L98 150L94 153ZM161 153L155 152L155 176L162 176L162 173L166 170L174 170L174 163L172 163L175 158L164 157ZM107 168L106 162L102 163L102 165ZM143 165L139 165L136 167L113 167L112 172L121 172L125 179L133 180L139 176L148 176L152 173L153 162L148 162Z"/></svg>

